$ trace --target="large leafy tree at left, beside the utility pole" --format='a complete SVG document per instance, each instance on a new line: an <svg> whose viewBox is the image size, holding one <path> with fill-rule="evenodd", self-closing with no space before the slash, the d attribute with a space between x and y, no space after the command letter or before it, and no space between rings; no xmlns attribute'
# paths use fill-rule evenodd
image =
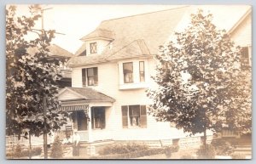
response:
<svg viewBox="0 0 256 164"><path fill-rule="evenodd" d="M6 10L6 134L19 139L55 132L67 122L67 113L58 110L55 97L61 61L48 58L55 31L33 30L40 9L31 6L29 17L17 16L15 6ZM38 37L27 39L32 32Z"/></svg>

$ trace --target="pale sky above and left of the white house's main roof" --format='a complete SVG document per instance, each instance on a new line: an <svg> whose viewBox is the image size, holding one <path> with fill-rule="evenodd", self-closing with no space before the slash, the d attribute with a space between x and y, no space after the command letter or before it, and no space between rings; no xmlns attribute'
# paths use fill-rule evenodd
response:
<svg viewBox="0 0 256 164"><path fill-rule="evenodd" d="M56 34L52 43L75 54L82 45L79 39L94 31L102 20L143 14L169 8L177 5L43 5L50 8L44 11L44 29L55 30L65 35ZM18 5L17 14L29 14L27 5ZM41 29L41 20L36 28Z"/></svg>

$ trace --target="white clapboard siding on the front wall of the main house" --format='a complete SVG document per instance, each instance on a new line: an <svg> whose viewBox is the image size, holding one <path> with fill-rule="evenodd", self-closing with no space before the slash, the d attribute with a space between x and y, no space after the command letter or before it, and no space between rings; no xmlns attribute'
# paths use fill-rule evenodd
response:
<svg viewBox="0 0 256 164"><path fill-rule="evenodd" d="M147 62L147 65L145 65L146 82L150 87L155 88L157 85L153 79L150 78L150 76L153 76L155 73L155 61L154 59L137 59L132 61L141 60ZM119 78L122 78L119 76L119 71L122 71L119 69L119 64L119 62L111 62L102 65L73 68L73 87L82 88L81 70L83 68L96 66L98 68L98 85L90 88L94 88L115 99L113 106L106 110L106 128L103 130L92 130L92 139L159 140L185 138L186 134L183 133L183 130L177 130L171 127L170 122L156 122L155 118L150 115L147 116L146 128L122 127L122 105L150 105L152 104L152 100L148 99L146 95L147 88L119 89Z"/></svg>

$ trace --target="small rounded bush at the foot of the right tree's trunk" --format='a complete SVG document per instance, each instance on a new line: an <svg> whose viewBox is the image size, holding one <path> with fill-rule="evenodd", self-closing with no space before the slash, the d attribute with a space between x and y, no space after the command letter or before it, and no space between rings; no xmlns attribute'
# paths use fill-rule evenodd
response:
<svg viewBox="0 0 256 164"><path fill-rule="evenodd" d="M200 149L196 152L199 159L214 159L216 152L211 144L207 144L206 148L201 145Z"/></svg>

